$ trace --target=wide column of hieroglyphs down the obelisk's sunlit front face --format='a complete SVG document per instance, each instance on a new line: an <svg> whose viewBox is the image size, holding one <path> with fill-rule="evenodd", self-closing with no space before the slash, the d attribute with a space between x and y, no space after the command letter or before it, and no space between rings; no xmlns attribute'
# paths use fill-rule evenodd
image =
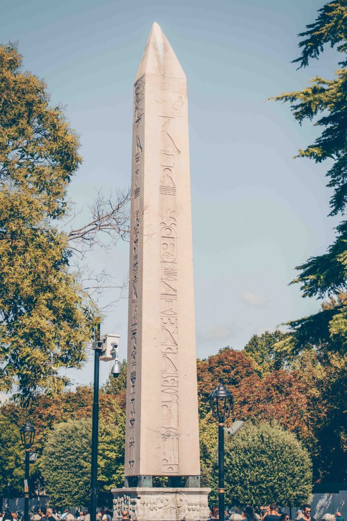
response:
<svg viewBox="0 0 347 521"><path fill-rule="evenodd" d="M167 89L169 87L169 89ZM170 94L170 85L157 85L160 104L160 330L161 330L161 440L162 472L178 474L178 316L177 316L177 217L176 158L181 154L175 135L175 116L183 98ZM175 115L175 116L173 116Z"/></svg>

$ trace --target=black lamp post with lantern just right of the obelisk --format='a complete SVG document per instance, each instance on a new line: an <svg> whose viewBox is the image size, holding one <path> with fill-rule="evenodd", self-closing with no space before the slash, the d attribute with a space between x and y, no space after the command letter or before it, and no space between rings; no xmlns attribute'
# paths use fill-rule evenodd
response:
<svg viewBox="0 0 347 521"><path fill-rule="evenodd" d="M224 521L224 424L230 416L232 394L222 384L211 392L212 416L218 420L218 506L219 521Z"/></svg>

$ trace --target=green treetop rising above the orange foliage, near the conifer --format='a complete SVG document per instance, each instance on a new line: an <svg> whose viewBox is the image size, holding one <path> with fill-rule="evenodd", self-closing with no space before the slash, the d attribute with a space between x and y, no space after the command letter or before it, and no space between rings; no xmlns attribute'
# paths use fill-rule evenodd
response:
<svg viewBox="0 0 347 521"><path fill-rule="evenodd" d="M283 369L287 365L286 356L276 349L275 345L283 340L284 333L278 329L273 332L265 331L260 336L254 334L247 342L243 353L252 358L257 366L257 373L260 376L267 375L278 369Z"/></svg>

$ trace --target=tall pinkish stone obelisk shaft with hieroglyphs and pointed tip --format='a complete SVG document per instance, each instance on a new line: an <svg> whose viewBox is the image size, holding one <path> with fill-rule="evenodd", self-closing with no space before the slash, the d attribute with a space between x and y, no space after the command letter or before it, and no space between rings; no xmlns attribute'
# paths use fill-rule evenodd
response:
<svg viewBox="0 0 347 521"><path fill-rule="evenodd" d="M154 23L134 86L125 475L199 475L186 77Z"/></svg>

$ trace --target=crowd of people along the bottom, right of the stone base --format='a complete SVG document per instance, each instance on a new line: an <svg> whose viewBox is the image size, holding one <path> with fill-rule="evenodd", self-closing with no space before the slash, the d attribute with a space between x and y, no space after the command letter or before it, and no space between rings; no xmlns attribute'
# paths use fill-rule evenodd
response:
<svg viewBox="0 0 347 521"><path fill-rule="evenodd" d="M219 519L218 506L211 507L209 519L210 521ZM225 510L224 519L225 521L237 521L239 519L244 519L245 521L291 521L289 514L282 512L276 503L271 503L269 506L260 506L259 508L246 506L241 513L238 513L236 507L232 512ZM303 505L302 510L296 512L295 521L316 521L316 518L312 515L311 506L308 504ZM336 521L344 521L341 512L336 513Z"/></svg>

